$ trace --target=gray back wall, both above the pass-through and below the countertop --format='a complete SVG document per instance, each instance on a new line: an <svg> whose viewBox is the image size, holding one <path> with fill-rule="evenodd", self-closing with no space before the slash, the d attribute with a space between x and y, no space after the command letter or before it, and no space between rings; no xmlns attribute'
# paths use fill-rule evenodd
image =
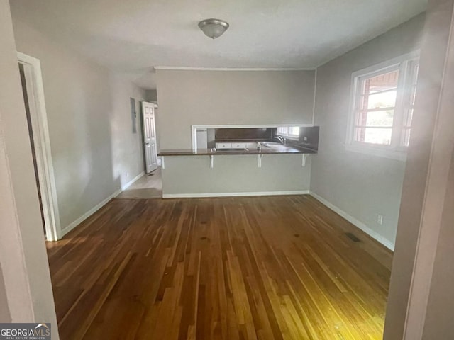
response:
<svg viewBox="0 0 454 340"><path fill-rule="evenodd" d="M177 71L157 76L160 149L190 149L191 125L312 123L314 71ZM301 155L165 157L164 195L309 190Z"/></svg>

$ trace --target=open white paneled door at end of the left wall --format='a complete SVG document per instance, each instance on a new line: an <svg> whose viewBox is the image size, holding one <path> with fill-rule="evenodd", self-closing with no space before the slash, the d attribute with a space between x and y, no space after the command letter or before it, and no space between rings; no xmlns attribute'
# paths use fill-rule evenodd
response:
<svg viewBox="0 0 454 340"><path fill-rule="evenodd" d="M155 128L155 104L142 103L143 149L145 153L145 171L149 174L157 169L157 145Z"/></svg>

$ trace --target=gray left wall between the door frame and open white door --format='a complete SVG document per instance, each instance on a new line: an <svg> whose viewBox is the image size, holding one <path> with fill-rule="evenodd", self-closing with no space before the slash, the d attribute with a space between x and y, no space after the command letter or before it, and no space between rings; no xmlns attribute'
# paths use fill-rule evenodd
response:
<svg viewBox="0 0 454 340"><path fill-rule="evenodd" d="M145 91L43 35L13 14L17 50L43 72L60 225L73 225L143 171ZM138 132L132 132L130 97Z"/></svg>

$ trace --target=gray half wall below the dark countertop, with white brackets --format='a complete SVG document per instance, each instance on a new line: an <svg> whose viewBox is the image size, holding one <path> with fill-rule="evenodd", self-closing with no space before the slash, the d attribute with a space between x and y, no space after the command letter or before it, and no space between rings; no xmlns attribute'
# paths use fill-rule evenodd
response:
<svg viewBox="0 0 454 340"><path fill-rule="evenodd" d="M165 157L162 190L165 195L181 193L269 193L309 191L311 162L301 167L301 154L270 154L214 157Z"/></svg>

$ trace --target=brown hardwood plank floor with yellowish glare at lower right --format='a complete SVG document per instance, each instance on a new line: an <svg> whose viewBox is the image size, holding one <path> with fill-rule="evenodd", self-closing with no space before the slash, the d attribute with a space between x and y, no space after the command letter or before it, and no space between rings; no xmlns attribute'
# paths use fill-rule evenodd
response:
<svg viewBox="0 0 454 340"><path fill-rule="evenodd" d="M62 340L382 339L392 253L311 196L114 199L47 245Z"/></svg>

